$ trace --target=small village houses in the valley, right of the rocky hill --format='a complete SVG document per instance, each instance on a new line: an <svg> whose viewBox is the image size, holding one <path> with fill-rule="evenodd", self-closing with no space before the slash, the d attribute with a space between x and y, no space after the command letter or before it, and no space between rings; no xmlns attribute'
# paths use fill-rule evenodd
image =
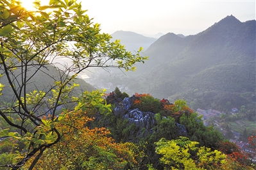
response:
<svg viewBox="0 0 256 170"><path fill-rule="evenodd" d="M235 114L238 111L239 110L237 108L232 108L231 114ZM198 108L196 112L198 112L198 115L202 115L202 119L205 126L209 126L209 123L208 123L209 119L217 117L218 115L221 114L221 112L219 112L218 110L213 110L213 109L203 110L201 108ZM220 124L217 121L214 121L214 122L216 126L220 127ZM226 131L223 130L222 128L220 129L221 129L221 133L225 135ZM229 141L235 143L239 148L241 148L241 151L250 155L250 157L252 157L252 162L256 162L256 148L253 148L252 146L250 146L248 142L239 141L238 139L241 135L240 133L233 132L233 134L235 136L235 139L230 139Z"/></svg>

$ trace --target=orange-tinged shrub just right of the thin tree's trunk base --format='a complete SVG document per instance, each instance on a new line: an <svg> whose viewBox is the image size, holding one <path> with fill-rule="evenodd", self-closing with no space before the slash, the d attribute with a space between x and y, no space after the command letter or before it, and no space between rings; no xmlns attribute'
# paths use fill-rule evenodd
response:
<svg viewBox="0 0 256 170"><path fill-rule="evenodd" d="M62 140L44 153L35 168L124 169L136 164L130 144L116 143L106 128L89 128L90 121L83 112L67 115L57 127Z"/></svg>

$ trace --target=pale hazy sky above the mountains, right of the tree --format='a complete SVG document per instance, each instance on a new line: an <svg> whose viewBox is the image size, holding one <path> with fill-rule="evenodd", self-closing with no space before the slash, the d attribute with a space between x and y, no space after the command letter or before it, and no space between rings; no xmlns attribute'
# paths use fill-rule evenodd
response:
<svg viewBox="0 0 256 170"><path fill-rule="evenodd" d="M154 35L194 35L227 15L255 19L255 1L81 0L105 33L117 30Z"/></svg>

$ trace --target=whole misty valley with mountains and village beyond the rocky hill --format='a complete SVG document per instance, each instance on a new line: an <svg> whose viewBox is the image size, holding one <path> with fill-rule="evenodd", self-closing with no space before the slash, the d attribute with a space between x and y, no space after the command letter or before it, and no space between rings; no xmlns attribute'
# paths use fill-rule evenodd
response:
<svg viewBox="0 0 256 170"><path fill-rule="evenodd" d="M203 110L198 114L205 124L226 139L246 141L255 133L255 21L230 15L197 35L167 33L156 39L116 31L112 36L130 51L146 47L142 55L149 60L137 64L135 72L89 72L90 85L171 102L184 99L194 111ZM211 110L217 114L210 115Z"/></svg>

